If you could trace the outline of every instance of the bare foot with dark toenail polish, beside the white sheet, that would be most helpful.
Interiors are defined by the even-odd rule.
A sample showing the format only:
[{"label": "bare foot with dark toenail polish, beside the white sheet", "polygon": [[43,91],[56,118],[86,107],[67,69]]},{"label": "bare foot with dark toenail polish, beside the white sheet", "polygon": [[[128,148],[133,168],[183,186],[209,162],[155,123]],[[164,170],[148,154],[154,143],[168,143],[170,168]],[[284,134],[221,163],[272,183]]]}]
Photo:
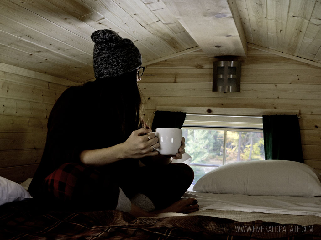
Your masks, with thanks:
[{"label": "bare foot with dark toenail polish, beside the white sheet", "polygon": [[181,199],[165,209],[153,211],[151,213],[154,213],[154,214],[159,214],[164,212],[190,213],[198,210],[199,210],[199,205],[197,204],[197,200],[195,198],[188,198],[188,199]]}]

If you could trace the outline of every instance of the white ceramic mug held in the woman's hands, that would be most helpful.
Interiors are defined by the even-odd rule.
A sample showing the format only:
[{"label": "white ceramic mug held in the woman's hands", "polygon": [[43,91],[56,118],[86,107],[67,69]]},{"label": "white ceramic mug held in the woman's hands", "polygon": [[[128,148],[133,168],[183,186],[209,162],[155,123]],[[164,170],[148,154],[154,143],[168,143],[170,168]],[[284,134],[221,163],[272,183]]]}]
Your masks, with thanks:
[{"label": "white ceramic mug held in the woman's hands", "polygon": [[162,155],[175,155],[182,144],[182,129],[156,128],[154,132],[158,137],[160,147],[156,150]]}]

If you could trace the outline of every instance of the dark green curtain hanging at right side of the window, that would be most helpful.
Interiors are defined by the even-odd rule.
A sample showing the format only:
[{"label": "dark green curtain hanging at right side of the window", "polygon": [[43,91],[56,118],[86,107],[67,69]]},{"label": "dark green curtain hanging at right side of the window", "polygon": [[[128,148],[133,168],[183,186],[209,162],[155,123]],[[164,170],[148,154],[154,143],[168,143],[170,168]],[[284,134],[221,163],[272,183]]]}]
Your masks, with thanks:
[{"label": "dark green curtain hanging at right side of the window", "polygon": [[265,159],[304,163],[297,115],[264,115]]}]

